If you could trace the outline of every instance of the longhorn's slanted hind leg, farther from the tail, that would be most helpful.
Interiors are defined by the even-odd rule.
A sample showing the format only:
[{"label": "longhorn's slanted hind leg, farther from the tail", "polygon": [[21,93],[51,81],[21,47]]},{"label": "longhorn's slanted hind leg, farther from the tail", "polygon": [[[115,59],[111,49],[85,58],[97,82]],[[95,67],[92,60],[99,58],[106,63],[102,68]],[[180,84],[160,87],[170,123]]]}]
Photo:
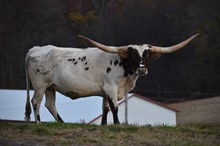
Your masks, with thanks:
[{"label": "longhorn's slanted hind leg, farther from the tail", "polygon": [[46,103],[45,106],[46,108],[50,111],[50,113],[53,115],[53,117],[58,121],[58,122],[63,122],[62,118],[57,112],[56,109],[56,96],[55,96],[55,90],[51,87],[47,88],[46,92]]}]

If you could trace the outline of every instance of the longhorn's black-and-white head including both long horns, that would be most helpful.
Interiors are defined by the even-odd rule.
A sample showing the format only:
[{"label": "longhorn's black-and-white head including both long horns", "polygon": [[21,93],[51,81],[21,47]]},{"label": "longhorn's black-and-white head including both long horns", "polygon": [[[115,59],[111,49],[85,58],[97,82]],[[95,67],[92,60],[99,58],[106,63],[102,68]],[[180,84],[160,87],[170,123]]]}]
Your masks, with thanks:
[{"label": "longhorn's black-and-white head including both long horns", "polygon": [[121,57],[123,67],[126,69],[125,75],[136,73],[138,75],[146,75],[147,59],[157,59],[161,54],[172,53],[187,45],[198,34],[193,35],[187,40],[170,47],[159,47],[149,44],[144,45],[127,45],[121,47],[112,47],[100,44],[94,40],[91,40],[85,36],[79,35],[79,37],[86,39],[92,45],[108,53],[117,53]]}]

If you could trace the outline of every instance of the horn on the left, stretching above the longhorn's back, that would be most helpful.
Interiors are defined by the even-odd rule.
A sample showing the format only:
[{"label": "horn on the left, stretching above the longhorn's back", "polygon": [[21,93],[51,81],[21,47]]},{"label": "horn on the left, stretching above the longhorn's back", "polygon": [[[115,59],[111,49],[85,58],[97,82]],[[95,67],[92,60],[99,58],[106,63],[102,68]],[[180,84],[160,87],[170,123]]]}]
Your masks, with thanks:
[{"label": "horn on the left, stretching above the longhorn's back", "polygon": [[89,41],[89,43],[91,43],[93,46],[99,48],[100,50],[108,52],[108,53],[118,53],[119,49],[121,48],[121,47],[106,46],[106,45],[100,44],[96,41],[93,41],[85,36],[82,36],[82,35],[78,35],[78,36]]}]

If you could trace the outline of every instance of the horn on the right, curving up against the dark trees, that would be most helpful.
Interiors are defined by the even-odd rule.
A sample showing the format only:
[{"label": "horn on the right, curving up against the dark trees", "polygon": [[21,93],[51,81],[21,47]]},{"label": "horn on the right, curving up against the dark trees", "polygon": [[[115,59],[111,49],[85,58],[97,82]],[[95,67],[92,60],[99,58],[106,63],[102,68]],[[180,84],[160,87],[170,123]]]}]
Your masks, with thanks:
[{"label": "horn on the right, curving up against the dark trees", "polygon": [[157,52],[157,53],[172,53],[175,52],[181,48],[183,48],[184,46],[186,46],[191,40],[193,40],[195,37],[197,37],[199,35],[199,33],[191,36],[190,38],[188,38],[187,40],[174,45],[174,46],[170,46],[170,47],[158,47],[158,46],[151,46],[151,51],[153,52]]}]

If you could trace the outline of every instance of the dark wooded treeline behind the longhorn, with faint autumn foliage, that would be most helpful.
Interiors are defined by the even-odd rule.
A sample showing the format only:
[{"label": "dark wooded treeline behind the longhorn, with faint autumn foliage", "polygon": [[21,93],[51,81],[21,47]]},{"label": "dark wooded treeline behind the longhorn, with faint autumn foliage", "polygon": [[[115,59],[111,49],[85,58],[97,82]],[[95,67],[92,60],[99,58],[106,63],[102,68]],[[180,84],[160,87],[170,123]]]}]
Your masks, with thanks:
[{"label": "dark wooded treeline behind the longhorn, with faint autumn foliage", "polygon": [[0,1],[0,88],[25,88],[24,57],[35,45],[87,47],[86,35],[106,45],[176,44],[185,49],[149,60],[134,92],[172,101],[220,94],[218,0]]}]

